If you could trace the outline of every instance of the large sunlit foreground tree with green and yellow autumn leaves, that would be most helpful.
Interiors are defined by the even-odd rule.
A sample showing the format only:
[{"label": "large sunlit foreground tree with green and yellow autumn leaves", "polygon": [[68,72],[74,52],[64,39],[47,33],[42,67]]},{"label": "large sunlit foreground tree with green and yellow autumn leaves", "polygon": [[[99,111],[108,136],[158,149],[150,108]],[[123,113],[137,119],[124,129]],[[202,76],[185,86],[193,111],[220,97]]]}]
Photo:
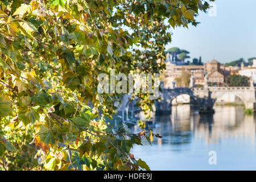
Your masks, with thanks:
[{"label": "large sunlit foreground tree with green and yellow autumn leaves", "polygon": [[[120,94],[98,93],[97,77],[159,73],[168,28],[196,26],[208,8],[201,0],[1,1],[0,168],[150,169],[130,149],[159,135],[108,128]],[[149,116],[149,93],[134,97]]]}]

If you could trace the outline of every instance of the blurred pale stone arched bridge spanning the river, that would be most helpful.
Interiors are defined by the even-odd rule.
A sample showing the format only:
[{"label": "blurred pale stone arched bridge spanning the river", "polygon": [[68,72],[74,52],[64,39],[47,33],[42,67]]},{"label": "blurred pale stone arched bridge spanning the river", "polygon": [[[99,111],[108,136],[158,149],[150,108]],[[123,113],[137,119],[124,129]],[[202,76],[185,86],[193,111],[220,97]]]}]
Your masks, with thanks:
[{"label": "blurred pale stone arched bridge spanning the river", "polygon": [[163,92],[159,93],[160,100],[155,101],[156,114],[171,113],[172,100],[181,94],[188,94],[191,99],[200,106],[200,109],[204,111],[213,110],[215,101],[224,94],[233,94],[240,98],[245,104],[245,109],[253,109],[254,111],[256,109],[256,87],[254,86],[205,86],[203,88],[163,88],[162,90]]}]

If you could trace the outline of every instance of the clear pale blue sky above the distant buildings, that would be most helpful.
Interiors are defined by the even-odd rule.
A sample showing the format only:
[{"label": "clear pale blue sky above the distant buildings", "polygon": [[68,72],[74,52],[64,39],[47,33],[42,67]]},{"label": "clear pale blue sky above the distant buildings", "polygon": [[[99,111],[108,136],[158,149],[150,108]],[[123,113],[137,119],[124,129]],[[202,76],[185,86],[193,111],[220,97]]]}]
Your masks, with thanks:
[{"label": "clear pale blue sky above the distant buildings", "polygon": [[196,18],[200,22],[197,27],[172,29],[172,42],[166,49],[187,49],[192,59],[202,56],[203,62],[214,58],[227,63],[241,57],[246,61],[256,57],[256,0],[216,0],[214,3],[216,16],[200,13]]}]

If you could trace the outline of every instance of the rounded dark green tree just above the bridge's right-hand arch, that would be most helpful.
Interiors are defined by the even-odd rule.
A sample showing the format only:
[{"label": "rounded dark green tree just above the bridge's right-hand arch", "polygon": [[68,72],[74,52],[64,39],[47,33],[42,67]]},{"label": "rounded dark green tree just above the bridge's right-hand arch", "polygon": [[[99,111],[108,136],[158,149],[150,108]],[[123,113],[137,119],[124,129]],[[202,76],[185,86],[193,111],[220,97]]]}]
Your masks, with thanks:
[{"label": "rounded dark green tree just above the bridge's right-hand arch", "polygon": [[250,78],[241,75],[229,75],[226,78],[228,86],[250,86]]}]

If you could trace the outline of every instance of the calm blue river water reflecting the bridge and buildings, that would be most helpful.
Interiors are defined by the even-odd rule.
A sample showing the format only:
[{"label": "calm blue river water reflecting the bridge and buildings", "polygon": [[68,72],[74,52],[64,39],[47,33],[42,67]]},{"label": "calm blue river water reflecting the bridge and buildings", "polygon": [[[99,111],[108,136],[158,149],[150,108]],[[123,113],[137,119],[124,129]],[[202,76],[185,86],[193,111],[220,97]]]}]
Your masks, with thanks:
[{"label": "calm blue river water reflecting the bridge and buildings", "polygon": [[143,141],[131,153],[151,170],[256,170],[255,115],[234,106],[214,110],[200,116],[190,105],[173,106],[170,115],[154,120],[152,131],[163,138],[152,146]]}]

